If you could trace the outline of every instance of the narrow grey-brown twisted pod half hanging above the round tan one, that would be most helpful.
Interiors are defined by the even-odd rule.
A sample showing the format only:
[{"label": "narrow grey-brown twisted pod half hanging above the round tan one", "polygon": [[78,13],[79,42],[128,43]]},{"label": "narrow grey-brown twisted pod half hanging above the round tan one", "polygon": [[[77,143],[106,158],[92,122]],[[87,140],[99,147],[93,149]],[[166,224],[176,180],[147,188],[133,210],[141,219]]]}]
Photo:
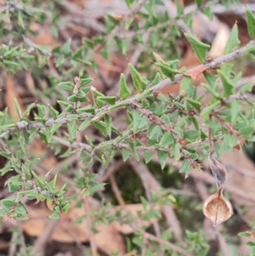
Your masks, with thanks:
[{"label": "narrow grey-brown twisted pod half hanging above the round tan one", "polygon": [[212,169],[212,174],[216,181],[217,188],[219,190],[222,188],[227,180],[226,168],[224,168],[224,166],[220,162],[218,162],[218,160],[214,156],[212,156],[212,154],[209,156],[209,163]]}]

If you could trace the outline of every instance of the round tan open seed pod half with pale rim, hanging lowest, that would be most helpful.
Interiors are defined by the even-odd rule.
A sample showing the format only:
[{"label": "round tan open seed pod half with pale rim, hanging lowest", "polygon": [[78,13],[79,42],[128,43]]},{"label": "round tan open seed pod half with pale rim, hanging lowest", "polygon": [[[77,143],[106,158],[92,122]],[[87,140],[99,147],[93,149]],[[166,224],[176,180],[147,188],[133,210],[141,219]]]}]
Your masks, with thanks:
[{"label": "round tan open seed pod half with pale rim, hanging lowest", "polygon": [[228,220],[233,214],[233,208],[229,200],[223,195],[223,189],[219,189],[204,202],[203,213],[212,220],[213,225],[218,225]]}]

